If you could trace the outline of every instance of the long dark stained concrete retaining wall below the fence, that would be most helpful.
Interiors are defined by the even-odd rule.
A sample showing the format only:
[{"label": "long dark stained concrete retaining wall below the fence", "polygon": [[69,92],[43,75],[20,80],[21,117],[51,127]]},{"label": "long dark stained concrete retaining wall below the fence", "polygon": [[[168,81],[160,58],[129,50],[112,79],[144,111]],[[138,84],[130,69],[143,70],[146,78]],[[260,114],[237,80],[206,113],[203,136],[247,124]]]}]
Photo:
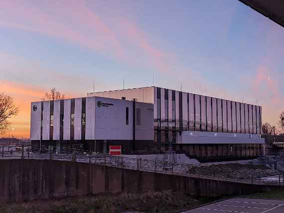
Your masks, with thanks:
[{"label": "long dark stained concrete retaining wall below the fence", "polygon": [[163,190],[178,191],[193,196],[217,197],[279,188],[279,186],[232,183],[82,162],[0,160],[0,200]]}]

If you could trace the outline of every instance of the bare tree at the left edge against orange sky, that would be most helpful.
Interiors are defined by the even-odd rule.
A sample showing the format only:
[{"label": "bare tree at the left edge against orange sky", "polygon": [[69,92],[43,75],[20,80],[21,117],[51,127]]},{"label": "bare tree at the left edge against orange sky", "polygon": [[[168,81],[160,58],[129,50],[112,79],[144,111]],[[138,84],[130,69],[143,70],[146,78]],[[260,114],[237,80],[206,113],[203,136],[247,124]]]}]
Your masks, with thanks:
[{"label": "bare tree at the left edge against orange sky", "polygon": [[19,113],[19,108],[13,103],[13,98],[0,93],[0,134],[5,134],[10,126],[9,118]]}]

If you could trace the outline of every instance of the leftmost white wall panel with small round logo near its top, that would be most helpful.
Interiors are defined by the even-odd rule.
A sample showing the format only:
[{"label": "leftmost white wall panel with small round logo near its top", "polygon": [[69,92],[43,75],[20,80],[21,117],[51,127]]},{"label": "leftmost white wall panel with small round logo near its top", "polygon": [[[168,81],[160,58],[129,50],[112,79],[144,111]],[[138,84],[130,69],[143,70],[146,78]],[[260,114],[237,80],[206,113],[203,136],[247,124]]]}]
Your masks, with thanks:
[{"label": "leftmost white wall panel with small round logo near its top", "polygon": [[[30,140],[40,140],[41,102],[32,102],[30,106]],[[33,106],[36,111],[33,111]]]}]

